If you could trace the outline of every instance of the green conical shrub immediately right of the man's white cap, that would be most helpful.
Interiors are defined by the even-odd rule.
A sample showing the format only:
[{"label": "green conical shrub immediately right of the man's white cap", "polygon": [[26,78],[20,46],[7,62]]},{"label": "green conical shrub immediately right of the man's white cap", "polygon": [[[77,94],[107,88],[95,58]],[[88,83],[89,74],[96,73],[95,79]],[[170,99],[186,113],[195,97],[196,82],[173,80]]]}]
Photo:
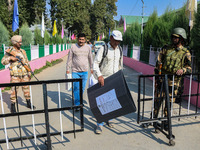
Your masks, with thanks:
[{"label": "green conical shrub immediately right of the man's white cap", "polygon": [[127,28],[123,35],[123,44],[132,47],[134,45],[140,45],[141,43],[141,26],[139,23],[133,23]]}]

